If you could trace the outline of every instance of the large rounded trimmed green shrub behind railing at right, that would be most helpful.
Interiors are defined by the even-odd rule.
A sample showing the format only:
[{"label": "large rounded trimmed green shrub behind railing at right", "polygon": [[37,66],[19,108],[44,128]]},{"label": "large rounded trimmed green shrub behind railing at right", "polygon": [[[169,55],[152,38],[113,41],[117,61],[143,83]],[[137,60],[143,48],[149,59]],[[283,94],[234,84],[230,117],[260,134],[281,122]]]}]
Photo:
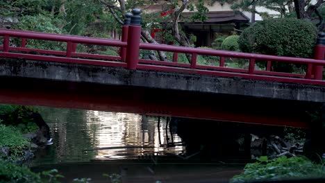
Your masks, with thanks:
[{"label": "large rounded trimmed green shrub behind railing at right", "polygon": [[244,30],[238,40],[240,50],[248,53],[310,58],[317,29],[301,19],[268,19]]}]

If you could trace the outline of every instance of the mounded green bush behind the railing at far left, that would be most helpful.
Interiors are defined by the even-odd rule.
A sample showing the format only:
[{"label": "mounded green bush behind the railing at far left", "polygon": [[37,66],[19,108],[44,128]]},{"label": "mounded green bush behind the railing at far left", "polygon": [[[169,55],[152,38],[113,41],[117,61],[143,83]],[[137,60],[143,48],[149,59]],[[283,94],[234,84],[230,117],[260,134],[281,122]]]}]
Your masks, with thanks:
[{"label": "mounded green bush behind the railing at far left", "polygon": [[[35,16],[24,16],[19,19],[19,22],[12,28],[18,30],[31,30],[42,33],[57,33],[63,34],[63,30],[60,28],[62,20],[56,19],[51,16],[35,15]],[[17,45],[19,45],[19,40]],[[63,42],[51,42],[51,41],[40,41],[40,40],[27,40],[26,47],[35,49],[51,49],[56,51],[63,51],[66,48],[66,44]]]}]

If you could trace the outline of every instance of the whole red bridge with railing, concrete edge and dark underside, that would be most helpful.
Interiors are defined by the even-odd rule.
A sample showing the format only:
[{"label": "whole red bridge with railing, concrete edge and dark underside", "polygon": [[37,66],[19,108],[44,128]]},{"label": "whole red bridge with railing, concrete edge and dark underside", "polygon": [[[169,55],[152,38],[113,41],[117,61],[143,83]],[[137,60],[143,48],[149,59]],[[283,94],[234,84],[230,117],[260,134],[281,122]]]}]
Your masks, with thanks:
[{"label": "whole red bridge with railing, concrete edge and dark underside", "polygon": [[[0,29],[0,103],[308,127],[306,110],[325,102],[325,46],[315,46],[314,59],[289,58],[140,43],[140,32],[132,21],[123,26],[122,40]],[[65,51],[35,49],[28,40],[67,46]],[[78,44],[115,46],[120,53],[79,53]],[[174,56],[169,62],[145,60],[140,50]],[[179,62],[179,53],[190,54],[190,63]],[[215,57],[219,65],[197,64],[197,55]],[[227,58],[245,59],[249,67],[225,67]],[[261,61],[264,71],[256,69]],[[303,64],[306,70],[276,72],[274,62]]]}]

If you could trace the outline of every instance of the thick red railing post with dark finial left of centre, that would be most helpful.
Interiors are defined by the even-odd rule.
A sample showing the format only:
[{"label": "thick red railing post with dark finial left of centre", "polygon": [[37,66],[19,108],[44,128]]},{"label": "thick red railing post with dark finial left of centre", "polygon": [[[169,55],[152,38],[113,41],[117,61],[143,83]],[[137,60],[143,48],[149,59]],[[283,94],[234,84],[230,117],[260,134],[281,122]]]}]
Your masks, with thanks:
[{"label": "thick red railing post with dark finial left of centre", "polygon": [[126,64],[128,69],[137,69],[139,62],[139,47],[140,47],[140,10],[133,9],[131,17],[131,25],[128,26],[128,45],[126,46]]}]

